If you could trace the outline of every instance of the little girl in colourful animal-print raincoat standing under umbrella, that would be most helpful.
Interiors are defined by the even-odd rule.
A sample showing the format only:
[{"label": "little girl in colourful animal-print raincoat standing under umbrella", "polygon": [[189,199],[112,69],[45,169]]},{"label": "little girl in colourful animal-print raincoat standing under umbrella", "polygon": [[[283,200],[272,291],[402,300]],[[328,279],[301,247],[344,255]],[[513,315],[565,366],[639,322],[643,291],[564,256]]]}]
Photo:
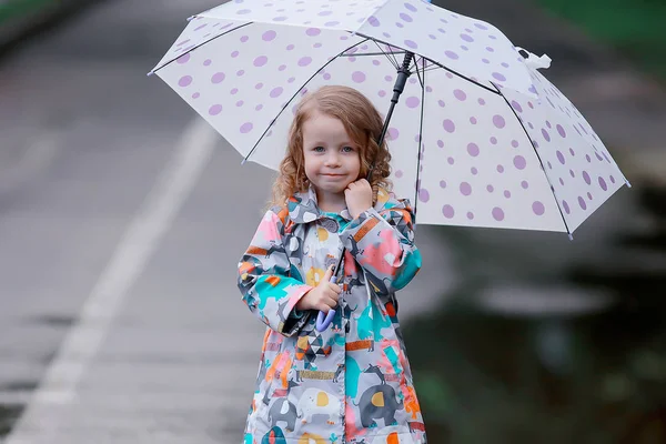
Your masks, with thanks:
[{"label": "little girl in colourful animal-print raincoat standing under umbrella", "polygon": [[[243,302],[269,326],[245,443],[426,442],[395,297],[421,254],[408,201],[387,191],[382,127],[346,87],[324,87],[296,110],[274,206],[239,264]],[[319,332],[317,311],[329,310]]]}]

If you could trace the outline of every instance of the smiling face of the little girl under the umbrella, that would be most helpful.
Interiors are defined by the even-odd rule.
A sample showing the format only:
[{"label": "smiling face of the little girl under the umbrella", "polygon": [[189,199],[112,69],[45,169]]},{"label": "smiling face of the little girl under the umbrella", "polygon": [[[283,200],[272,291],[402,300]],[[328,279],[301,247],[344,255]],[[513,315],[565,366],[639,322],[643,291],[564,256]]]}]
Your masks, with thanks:
[{"label": "smiling face of the little girl under the umbrella", "polygon": [[359,179],[359,147],[339,119],[314,111],[303,123],[305,175],[319,194],[344,196],[344,190]]}]

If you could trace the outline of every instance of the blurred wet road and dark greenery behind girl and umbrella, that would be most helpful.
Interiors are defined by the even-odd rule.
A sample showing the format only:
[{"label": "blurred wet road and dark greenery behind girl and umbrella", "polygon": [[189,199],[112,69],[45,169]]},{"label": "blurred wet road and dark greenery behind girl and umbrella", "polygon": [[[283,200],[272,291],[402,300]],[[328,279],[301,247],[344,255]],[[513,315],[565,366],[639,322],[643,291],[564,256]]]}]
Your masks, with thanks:
[{"label": "blurred wet road and dark greenery behind girl and umbrella", "polygon": [[[430,442],[666,443],[666,2],[434,3],[547,53],[634,186],[574,241],[417,228]],[[0,441],[241,441],[263,329],[235,268],[272,174],[145,77],[216,4],[0,0]]]}]

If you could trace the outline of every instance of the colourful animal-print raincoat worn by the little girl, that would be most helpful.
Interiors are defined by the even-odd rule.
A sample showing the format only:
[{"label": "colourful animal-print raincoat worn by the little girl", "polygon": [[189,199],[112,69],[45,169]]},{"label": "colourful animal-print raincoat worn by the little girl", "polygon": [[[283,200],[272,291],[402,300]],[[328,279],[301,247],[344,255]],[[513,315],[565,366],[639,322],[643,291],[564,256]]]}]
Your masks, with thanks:
[{"label": "colourful animal-print raincoat worn by the little girl", "polygon": [[[245,444],[425,444],[395,291],[421,268],[408,201],[380,190],[351,220],[310,190],[266,212],[239,264],[239,287],[269,327]],[[296,302],[346,248],[324,332]]]}]

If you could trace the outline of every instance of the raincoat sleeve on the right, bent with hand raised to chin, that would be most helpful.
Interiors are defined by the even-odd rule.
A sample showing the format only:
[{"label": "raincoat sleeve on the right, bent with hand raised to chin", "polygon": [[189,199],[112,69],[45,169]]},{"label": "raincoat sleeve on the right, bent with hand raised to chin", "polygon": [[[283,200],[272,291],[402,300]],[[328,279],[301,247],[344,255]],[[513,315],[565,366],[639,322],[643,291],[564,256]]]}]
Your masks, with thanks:
[{"label": "raincoat sleeve on the right, bent with hand raised to chin", "polygon": [[389,201],[361,213],[341,233],[347,251],[365,270],[379,294],[403,289],[421,270],[408,200]]}]

